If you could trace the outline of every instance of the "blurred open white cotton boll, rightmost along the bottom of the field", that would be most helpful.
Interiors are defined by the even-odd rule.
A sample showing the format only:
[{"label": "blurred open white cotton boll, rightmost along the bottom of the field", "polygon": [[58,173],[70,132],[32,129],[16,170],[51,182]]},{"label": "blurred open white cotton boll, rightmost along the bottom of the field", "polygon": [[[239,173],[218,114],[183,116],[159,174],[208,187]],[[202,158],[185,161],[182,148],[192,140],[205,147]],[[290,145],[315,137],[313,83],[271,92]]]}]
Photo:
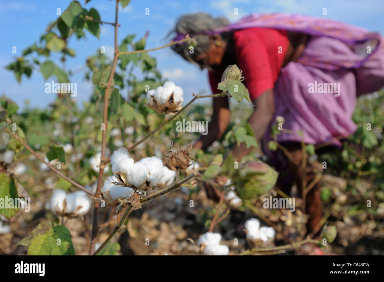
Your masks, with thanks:
[{"label": "blurred open white cotton boll, rightmost along the bottom of the field", "polygon": [[245,222],[245,232],[247,233],[247,241],[253,244],[272,241],[276,234],[272,227],[260,227],[260,221],[256,218],[248,219]]}]

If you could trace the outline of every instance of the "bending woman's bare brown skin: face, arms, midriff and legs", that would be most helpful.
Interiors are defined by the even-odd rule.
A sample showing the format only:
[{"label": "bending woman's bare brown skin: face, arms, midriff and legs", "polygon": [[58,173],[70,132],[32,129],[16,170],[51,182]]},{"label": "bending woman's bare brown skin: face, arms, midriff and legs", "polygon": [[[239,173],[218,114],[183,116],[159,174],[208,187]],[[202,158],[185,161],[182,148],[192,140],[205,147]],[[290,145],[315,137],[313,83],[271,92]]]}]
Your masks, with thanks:
[{"label": "bending woman's bare brown skin: face, arms, midriff and legs", "polygon": [[[286,51],[282,67],[300,57],[301,53],[305,49],[308,36],[301,33],[288,32],[288,40],[290,43],[288,50]],[[211,70],[225,69],[228,65],[235,64],[235,52],[232,43],[226,43],[223,41],[220,35],[210,36],[209,48],[207,51],[205,51],[205,53],[197,56],[195,58],[195,62],[200,65],[201,69],[203,69],[204,66],[208,66]],[[252,126],[257,141],[260,142],[275,112],[273,89],[268,89],[263,92],[253,101],[253,104],[255,105],[255,108],[248,119],[248,123]],[[208,124],[208,134],[202,135],[200,139],[195,143],[194,148],[205,150],[215,140],[220,139],[220,137],[225,132],[225,129],[227,129],[229,122],[230,110],[228,96],[215,97],[213,103],[212,119]],[[303,158],[301,144],[289,143],[283,145],[285,145],[288,153],[291,154],[293,159],[297,163],[301,163]],[[251,151],[252,148],[247,149],[245,144],[241,144],[239,147],[235,146],[233,148],[233,155],[237,158],[238,161],[240,161],[242,157],[248,155],[248,153]],[[279,171],[284,170],[292,176],[292,181],[296,183],[299,194],[301,195],[301,185],[303,183],[301,168],[297,167],[288,158],[286,158],[286,163],[288,164],[287,167],[277,167],[276,169]],[[310,165],[308,165],[306,169],[306,182],[309,184],[312,180],[314,180],[316,175]],[[280,188],[280,190],[289,195],[292,182],[288,182],[282,185],[280,184],[280,181],[278,181],[277,186]],[[214,189],[210,185],[207,185],[206,187],[207,195],[214,200],[218,200],[220,196],[219,192],[216,190],[217,189]],[[322,217],[319,183],[314,185],[306,195],[306,213],[309,215],[307,223],[307,233],[309,234],[317,227],[317,224]]]}]

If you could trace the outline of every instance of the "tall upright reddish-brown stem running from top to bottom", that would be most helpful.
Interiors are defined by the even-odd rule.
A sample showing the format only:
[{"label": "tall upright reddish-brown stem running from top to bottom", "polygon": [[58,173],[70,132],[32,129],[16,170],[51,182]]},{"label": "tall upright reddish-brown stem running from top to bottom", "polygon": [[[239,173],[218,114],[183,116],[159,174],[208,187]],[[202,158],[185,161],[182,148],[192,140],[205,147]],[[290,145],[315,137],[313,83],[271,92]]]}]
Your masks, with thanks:
[{"label": "tall upright reddish-brown stem running from top to bottom", "polygon": [[[114,47],[115,47],[115,54],[113,57],[113,63],[112,63],[112,69],[111,74],[109,75],[109,79],[106,85],[106,90],[104,94],[104,106],[103,106],[103,123],[104,123],[104,130],[103,130],[103,138],[101,142],[101,163],[100,163],[100,170],[99,170],[99,176],[98,176],[98,182],[97,182],[97,188],[96,192],[94,194],[94,197],[96,198],[97,195],[100,193],[101,190],[101,184],[103,183],[103,173],[104,173],[104,158],[105,158],[105,147],[106,147],[106,132],[107,132],[107,126],[108,126],[108,101],[109,101],[109,92],[111,91],[111,84],[113,80],[113,76],[115,73],[116,63],[119,57],[118,53],[118,10],[119,10],[119,0],[116,0],[116,10],[115,10],[115,24],[114,24]],[[94,203],[93,206],[93,213],[92,213],[92,231],[91,231],[91,244],[89,246],[89,255],[93,254],[96,244],[96,237],[98,234],[98,215],[99,215],[99,205],[98,203]]]}]

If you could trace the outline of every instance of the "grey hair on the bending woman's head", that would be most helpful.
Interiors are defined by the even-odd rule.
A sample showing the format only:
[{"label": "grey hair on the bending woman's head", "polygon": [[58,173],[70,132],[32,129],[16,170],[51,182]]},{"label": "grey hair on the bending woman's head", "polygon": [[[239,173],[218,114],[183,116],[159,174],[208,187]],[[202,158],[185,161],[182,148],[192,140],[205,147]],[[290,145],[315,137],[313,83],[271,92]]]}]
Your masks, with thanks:
[{"label": "grey hair on the bending woman's head", "polygon": [[[220,28],[229,24],[229,20],[223,16],[218,16],[213,18],[208,13],[194,13],[181,16],[175,25],[175,29],[170,31],[172,33],[182,33],[182,34],[194,34],[204,31],[214,30],[215,28]],[[180,54],[185,60],[193,62],[193,59],[201,53],[207,51],[209,47],[209,35],[206,34],[197,34],[191,35],[196,41],[197,45],[194,47],[194,53],[189,53],[189,45],[185,42],[182,45],[172,45],[171,48],[177,53]],[[227,41],[228,38],[226,34],[222,33],[222,38],[224,41]]]}]

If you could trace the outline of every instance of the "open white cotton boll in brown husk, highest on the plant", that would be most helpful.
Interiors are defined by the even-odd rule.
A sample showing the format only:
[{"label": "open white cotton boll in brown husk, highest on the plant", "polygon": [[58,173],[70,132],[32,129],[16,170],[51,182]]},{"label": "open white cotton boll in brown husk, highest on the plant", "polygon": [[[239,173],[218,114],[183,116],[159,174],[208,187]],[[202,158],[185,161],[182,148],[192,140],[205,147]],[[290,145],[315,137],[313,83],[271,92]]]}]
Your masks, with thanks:
[{"label": "open white cotton boll in brown husk, highest on the plant", "polygon": [[174,82],[167,81],[163,86],[151,89],[147,92],[147,107],[159,113],[174,114],[182,108],[184,92]]}]

